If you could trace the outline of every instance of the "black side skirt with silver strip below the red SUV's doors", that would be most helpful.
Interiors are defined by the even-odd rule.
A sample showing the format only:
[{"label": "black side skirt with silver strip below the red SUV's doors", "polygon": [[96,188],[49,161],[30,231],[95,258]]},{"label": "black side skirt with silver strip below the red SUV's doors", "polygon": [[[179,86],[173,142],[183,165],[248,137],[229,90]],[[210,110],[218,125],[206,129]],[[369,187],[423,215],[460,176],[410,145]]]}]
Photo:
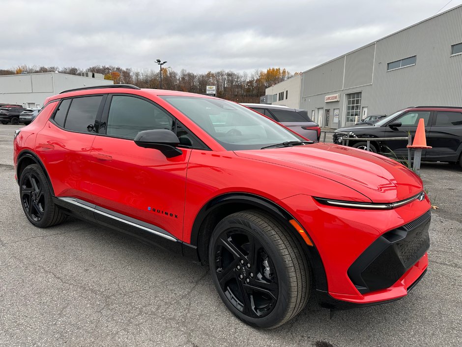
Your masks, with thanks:
[{"label": "black side skirt with silver strip below the red SUV's doors", "polygon": [[73,197],[54,196],[53,201],[68,215],[84,221],[107,226],[124,234],[131,235],[144,243],[187,256],[194,261],[199,260],[196,247],[184,243],[168,231],[156,225],[122,215]]}]

